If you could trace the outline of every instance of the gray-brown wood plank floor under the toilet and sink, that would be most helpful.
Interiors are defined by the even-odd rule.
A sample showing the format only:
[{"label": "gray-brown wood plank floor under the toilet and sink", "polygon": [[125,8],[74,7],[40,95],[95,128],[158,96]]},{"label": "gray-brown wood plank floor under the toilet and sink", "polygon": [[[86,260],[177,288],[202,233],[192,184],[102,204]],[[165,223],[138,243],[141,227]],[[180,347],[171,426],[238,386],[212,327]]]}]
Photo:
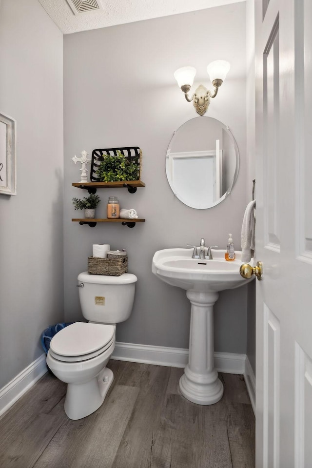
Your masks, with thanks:
[{"label": "gray-brown wood plank floor under the toilet and sink", "polygon": [[244,379],[223,374],[221,401],[181,396],[183,369],[111,360],[103,405],[72,421],[66,385],[45,374],[0,419],[1,468],[254,468],[255,420]]}]

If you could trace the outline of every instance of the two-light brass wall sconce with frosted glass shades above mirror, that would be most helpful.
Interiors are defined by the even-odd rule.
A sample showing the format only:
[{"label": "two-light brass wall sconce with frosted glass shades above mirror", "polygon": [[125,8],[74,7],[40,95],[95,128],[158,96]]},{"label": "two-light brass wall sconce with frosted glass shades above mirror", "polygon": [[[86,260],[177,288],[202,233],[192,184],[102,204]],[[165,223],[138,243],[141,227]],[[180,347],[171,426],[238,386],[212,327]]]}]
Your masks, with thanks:
[{"label": "two-light brass wall sconce with frosted glass shades above mirror", "polygon": [[194,77],[196,75],[196,68],[194,67],[182,67],[175,71],[175,78],[177,84],[184,93],[185,99],[188,102],[193,101],[196,112],[199,115],[204,115],[210,104],[210,98],[215,98],[218,89],[223,83],[228,71],[230,70],[230,63],[225,60],[215,60],[211,62],[207,67],[207,73],[210,81],[214,85],[214,94],[205,86],[200,84],[193,94],[192,98],[189,98],[189,91],[193,85]]}]

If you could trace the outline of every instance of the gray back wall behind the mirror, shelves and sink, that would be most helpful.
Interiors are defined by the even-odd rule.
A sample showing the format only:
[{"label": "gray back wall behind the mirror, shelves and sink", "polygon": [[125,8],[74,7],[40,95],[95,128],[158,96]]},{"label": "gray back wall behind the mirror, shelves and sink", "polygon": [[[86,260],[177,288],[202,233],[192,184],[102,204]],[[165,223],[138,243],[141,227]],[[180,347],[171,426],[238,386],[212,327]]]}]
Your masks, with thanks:
[{"label": "gray back wall behind the mirror, shelves and sink", "polygon": [[[240,151],[233,192],[221,204],[195,210],[175,198],[165,174],[173,132],[196,117],[173,77],[183,65],[197,68],[195,86],[209,85],[207,64],[231,62],[231,70],[208,114],[228,125]],[[212,87],[212,85],[210,85]],[[66,320],[81,320],[77,275],[87,269],[93,243],[125,247],[129,271],[137,274],[131,317],[117,325],[117,341],[188,347],[190,304],[185,292],[151,272],[153,254],[167,247],[199,243],[225,248],[231,232],[237,250],[246,207],[246,35],[245,4],[236,3],[172,17],[87,31],[64,37],[64,279]],[[145,188],[101,190],[98,217],[109,195],[123,208],[135,208],[146,223],[133,229],[116,224],[95,228],[71,222],[77,217],[72,187],[79,181],[71,158],[94,148],[140,146]],[[220,294],[215,306],[215,350],[246,352],[247,287]]]}]

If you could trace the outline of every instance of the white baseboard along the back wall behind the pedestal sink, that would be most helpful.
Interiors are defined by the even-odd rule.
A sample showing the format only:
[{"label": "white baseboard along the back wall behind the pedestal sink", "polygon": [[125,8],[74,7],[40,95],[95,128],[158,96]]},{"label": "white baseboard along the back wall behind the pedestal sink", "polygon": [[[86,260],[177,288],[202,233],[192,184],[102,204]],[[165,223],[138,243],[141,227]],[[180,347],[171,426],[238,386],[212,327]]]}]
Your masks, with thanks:
[{"label": "white baseboard along the back wall behind the pedestal sink", "polygon": [[[188,363],[189,350],[166,348],[164,346],[137,345],[116,342],[112,359],[120,361],[143,362],[159,366],[185,367]],[[245,372],[245,354],[215,352],[215,368],[219,372],[243,374]]]}]

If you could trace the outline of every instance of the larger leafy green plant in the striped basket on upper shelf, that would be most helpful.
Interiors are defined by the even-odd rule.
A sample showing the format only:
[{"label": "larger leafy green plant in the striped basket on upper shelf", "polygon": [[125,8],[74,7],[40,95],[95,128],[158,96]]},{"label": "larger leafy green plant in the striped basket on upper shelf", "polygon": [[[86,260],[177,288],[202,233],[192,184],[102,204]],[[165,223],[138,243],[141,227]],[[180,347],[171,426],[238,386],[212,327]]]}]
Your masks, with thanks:
[{"label": "larger leafy green plant in the striped basket on upper shelf", "polygon": [[96,173],[101,182],[138,180],[139,164],[117,150],[116,156],[103,155]]}]

